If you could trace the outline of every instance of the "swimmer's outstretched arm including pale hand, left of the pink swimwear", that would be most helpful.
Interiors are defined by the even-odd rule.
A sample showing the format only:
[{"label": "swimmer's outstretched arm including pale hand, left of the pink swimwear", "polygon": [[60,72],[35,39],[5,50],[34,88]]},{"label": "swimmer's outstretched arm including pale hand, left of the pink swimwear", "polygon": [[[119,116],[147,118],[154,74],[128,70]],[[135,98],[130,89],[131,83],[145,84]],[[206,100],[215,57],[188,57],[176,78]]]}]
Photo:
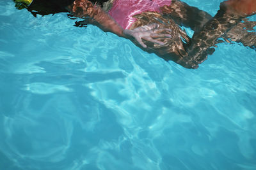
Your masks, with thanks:
[{"label": "swimmer's outstretched arm including pale hand, left of the pink swimwear", "polygon": [[90,17],[93,19],[93,21],[95,21],[93,24],[100,27],[100,29],[103,31],[113,32],[120,37],[131,39],[132,41],[139,43],[144,48],[147,48],[147,46],[141,39],[145,39],[152,43],[159,43],[161,45],[163,43],[154,38],[170,36],[168,34],[161,33],[167,31],[166,29],[157,29],[157,27],[156,29],[152,29],[150,31],[123,29],[111,16],[108,15],[108,13],[102,10],[102,8],[93,5],[87,0],[76,0],[72,5],[67,7],[67,10],[70,11],[70,13],[72,13],[75,17]]}]

